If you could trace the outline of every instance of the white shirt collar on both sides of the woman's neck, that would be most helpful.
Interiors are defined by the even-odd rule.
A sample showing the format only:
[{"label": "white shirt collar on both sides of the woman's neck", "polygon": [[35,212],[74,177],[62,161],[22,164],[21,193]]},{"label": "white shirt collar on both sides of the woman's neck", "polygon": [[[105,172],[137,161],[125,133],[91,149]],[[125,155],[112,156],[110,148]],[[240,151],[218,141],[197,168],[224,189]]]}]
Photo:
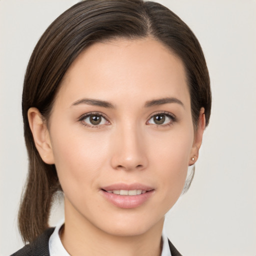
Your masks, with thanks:
[{"label": "white shirt collar on both sides of the woman's neck", "polygon": [[[65,250],[64,246],[61,243],[61,240],[59,238],[59,229],[63,225],[63,222],[61,221],[60,224],[58,224],[53,233],[50,236],[49,239],[49,252],[50,256],[70,256],[68,252]],[[162,231],[162,253],[161,256],[171,256],[169,244],[168,244],[168,238],[164,232]]]}]

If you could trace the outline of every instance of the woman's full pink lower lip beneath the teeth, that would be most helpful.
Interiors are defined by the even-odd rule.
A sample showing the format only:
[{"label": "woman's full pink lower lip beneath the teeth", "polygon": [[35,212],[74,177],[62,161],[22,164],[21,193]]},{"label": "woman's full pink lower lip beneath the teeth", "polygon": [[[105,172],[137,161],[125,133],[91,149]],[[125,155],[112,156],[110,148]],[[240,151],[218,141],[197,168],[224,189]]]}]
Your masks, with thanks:
[{"label": "woman's full pink lower lip beneath the teeth", "polygon": [[137,195],[120,195],[114,193],[108,193],[105,190],[101,190],[103,196],[111,202],[113,205],[119,208],[135,208],[142,205],[153,194],[154,189],[146,191],[143,194]]}]

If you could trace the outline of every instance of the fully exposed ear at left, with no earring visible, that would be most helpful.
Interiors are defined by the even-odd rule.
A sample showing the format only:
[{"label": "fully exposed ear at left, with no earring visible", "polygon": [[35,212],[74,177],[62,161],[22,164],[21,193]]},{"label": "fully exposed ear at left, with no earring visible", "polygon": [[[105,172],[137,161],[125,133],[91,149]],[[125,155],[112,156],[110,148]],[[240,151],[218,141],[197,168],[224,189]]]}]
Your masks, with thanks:
[{"label": "fully exposed ear at left, with no earring visible", "polygon": [[49,131],[41,113],[35,107],[30,107],[27,111],[30,130],[33,134],[34,144],[42,160],[45,163],[53,164],[54,157],[50,142]]}]

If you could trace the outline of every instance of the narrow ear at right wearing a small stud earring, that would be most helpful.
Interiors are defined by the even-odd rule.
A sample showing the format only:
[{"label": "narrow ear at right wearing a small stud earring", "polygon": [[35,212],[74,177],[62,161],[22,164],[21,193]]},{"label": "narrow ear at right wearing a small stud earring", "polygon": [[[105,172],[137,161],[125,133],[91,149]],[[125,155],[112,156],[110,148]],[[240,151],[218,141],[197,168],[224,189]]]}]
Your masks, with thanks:
[{"label": "narrow ear at right wearing a small stud earring", "polygon": [[201,107],[198,122],[197,122],[197,129],[194,132],[194,140],[193,140],[193,145],[190,151],[190,158],[189,158],[188,165],[194,164],[198,159],[199,148],[202,143],[202,134],[203,134],[204,128],[205,128],[204,107]]}]

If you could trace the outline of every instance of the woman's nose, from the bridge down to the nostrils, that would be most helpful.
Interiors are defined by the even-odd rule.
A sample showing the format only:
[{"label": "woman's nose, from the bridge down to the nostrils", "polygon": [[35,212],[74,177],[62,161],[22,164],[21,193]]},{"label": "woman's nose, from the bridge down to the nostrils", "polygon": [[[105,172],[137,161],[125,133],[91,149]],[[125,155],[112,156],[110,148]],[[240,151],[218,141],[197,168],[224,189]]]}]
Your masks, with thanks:
[{"label": "woman's nose, from the bridge down to the nostrils", "polygon": [[148,164],[143,132],[134,126],[115,131],[112,143],[111,166],[114,169],[144,169]]}]

